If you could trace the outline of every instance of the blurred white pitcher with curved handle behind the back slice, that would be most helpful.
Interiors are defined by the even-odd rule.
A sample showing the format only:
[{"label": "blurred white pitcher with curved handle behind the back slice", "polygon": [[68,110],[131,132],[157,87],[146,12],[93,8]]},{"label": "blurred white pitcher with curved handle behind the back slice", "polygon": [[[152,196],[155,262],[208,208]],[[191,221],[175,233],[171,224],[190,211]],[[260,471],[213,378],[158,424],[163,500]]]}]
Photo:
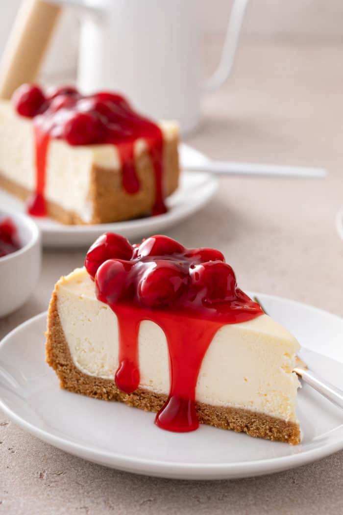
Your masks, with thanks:
[{"label": "blurred white pitcher with curved handle behind the back slice", "polygon": [[199,122],[201,92],[230,73],[248,2],[234,0],[220,64],[201,83],[196,0],[45,1],[81,13],[82,92],[122,92],[149,116],[177,119],[184,133]]}]

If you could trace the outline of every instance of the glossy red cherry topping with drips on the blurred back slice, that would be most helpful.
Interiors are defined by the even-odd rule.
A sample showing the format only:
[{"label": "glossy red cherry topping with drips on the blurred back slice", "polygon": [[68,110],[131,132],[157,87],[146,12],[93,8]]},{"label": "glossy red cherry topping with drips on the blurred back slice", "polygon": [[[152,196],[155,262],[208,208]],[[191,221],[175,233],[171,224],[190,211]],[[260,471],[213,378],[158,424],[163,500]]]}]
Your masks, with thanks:
[{"label": "glossy red cherry topping with drips on the blurred back slice", "polygon": [[83,96],[75,88],[61,87],[50,94],[34,84],[23,84],[13,95],[18,114],[33,118],[36,187],[28,212],[46,216],[46,160],[51,138],[69,145],[112,144],[118,149],[122,186],[134,195],[140,190],[135,166],[135,142],[143,138],[153,165],[153,215],[166,213],[163,193],[163,134],[158,125],[136,113],[121,95],[100,92]]}]

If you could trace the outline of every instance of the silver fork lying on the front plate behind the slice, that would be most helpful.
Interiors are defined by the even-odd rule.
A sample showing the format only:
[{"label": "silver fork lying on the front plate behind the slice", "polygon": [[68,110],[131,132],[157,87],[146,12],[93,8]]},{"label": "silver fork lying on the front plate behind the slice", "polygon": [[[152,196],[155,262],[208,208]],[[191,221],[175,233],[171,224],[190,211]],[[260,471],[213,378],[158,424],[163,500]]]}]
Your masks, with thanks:
[{"label": "silver fork lying on the front plate behind the slice", "polygon": [[[254,300],[260,304],[263,312],[267,315],[268,313],[264,309],[259,299],[254,297]],[[312,386],[312,388],[321,393],[323,397],[331,401],[339,408],[343,408],[343,390],[332,385],[326,379],[322,379],[322,377],[320,377],[312,370],[309,370],[306,363],[304,363],[302,359],[299,358],[299,356],[296,357],[296,366],[294,367],[293,372],[295,372],[297,376],[300,377],[300,379],[302,379],[305,383]]]}]

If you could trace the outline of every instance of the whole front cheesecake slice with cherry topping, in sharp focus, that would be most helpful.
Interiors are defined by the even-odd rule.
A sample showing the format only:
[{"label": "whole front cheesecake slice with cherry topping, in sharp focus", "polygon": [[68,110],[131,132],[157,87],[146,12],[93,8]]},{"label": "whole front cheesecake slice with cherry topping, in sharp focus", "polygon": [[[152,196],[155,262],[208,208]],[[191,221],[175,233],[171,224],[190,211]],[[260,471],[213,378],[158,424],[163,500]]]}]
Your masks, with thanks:
[{"label": "whole front cheesecake slice with cherry topping, in sharp focus", "polygon": [[[212,259],[212,261],[211,261]],[[56,284],[46,356],[72,392],[297,444],[299,345],[236,284],[223,255],[107,234]]]}]

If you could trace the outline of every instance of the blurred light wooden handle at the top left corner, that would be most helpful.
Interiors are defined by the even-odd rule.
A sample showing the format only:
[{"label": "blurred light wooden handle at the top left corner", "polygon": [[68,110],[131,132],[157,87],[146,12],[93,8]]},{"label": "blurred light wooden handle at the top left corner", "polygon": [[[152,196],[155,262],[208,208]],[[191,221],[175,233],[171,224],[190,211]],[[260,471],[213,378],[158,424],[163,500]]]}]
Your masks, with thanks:
[{"label": "blurred light wooden handle at the top left corner", "polygon": [[0,63],[0,98],[35,80],[60,12],[43,0],[23,0]]}]

